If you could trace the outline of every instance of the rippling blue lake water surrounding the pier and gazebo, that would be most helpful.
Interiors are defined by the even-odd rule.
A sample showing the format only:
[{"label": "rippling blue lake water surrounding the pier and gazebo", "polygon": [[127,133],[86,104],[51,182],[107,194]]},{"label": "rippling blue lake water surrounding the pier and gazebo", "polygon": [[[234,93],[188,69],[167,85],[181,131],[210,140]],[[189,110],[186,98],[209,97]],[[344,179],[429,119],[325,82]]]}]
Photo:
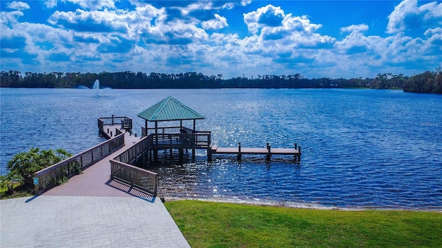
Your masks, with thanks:
[{"label": "rippling blue lake water surrounding the pier and gazebo", "polygon": [[[159,173],[166,197],[281,205],[442,209],[442,96],[398,90],[1,89],[1,174],[30,147],[74,154],[104,141],[97,117],[133,118],[175,99],[206,118],[218,146],[302,147],[291,156],[214,155],[184,163],[162,156],[141,166]],[[176,123],[177,124],[177,123]],[[184,122],[191,127],[193,123]]]}]

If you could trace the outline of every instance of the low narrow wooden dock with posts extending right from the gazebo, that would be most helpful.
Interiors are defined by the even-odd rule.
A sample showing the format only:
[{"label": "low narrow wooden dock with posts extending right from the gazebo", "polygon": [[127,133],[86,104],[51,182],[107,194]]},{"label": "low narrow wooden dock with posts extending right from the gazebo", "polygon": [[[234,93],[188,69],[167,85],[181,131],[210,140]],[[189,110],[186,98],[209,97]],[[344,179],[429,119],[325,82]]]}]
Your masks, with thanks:
[{"label": "low narrow wooden dock with posts extending right from the gazebo", "polygon": [[208,149],[209,160],[212,154],[236,154],[240,161],[242,155],[266,155],[267,161],[270,161],[272,155],[293,155],[295,160],[300,161],[301,147],[295,143],[294,148],[272,148],[269,143],[267,147],[241,147],[241,143],[238,143],[238,147],[218,147],[217,145],[211,145]]}]

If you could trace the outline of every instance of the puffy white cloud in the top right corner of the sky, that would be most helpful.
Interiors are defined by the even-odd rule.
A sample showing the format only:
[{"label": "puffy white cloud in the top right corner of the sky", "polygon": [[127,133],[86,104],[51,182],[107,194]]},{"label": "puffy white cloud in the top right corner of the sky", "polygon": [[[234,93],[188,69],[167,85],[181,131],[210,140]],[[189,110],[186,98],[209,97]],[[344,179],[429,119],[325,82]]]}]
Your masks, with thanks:
[{"label": "puffy white cloud in the top right corner of the sky", "polygon": [[404,0],[388,16],[387,33],[442,25],[442,3],[418,6],[417,0]]}]

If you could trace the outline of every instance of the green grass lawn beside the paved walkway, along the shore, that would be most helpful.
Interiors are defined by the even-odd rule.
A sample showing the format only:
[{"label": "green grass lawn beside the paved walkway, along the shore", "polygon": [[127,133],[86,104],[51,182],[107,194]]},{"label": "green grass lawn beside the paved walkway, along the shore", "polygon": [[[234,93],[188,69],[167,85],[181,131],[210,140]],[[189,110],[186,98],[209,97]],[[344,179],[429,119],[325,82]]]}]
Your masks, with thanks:
[{"label": "green grass lawn beside the paved walkway, along the shore", "polygon": [[442,247],[442,213],[164,204],[191,247]]}]

